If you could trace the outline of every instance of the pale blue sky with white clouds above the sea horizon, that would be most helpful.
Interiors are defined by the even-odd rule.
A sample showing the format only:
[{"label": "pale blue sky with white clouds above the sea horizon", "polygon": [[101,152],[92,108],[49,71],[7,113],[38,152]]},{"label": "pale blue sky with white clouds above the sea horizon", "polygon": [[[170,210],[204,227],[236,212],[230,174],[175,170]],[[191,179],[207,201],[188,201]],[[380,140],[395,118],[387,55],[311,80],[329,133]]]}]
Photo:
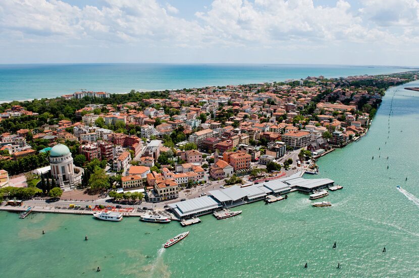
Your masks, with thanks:
[{"label": "pale blue sky with white clouds above the sea horizon", "polygon": [[419,0],[1,0],[0,63],[419,66]]}]

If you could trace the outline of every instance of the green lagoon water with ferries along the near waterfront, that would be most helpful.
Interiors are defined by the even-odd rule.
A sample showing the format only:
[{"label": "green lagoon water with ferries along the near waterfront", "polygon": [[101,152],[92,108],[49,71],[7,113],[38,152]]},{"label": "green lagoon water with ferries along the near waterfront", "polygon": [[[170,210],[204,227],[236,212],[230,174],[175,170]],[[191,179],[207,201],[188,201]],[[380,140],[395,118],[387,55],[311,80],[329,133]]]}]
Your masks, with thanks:
[{"label": "green lagoon water with ferries along the near waterfront", "polygon": [[[419,92],[405,86],[419,81],[390,88],[368,134],[321,158],[318,175],[304,175],[344,187],[321,199],[331,207],[292,192],[187,228],[0,212],[0,277],[418,277]],[[162,248],[184,231],[188,237]]]}]

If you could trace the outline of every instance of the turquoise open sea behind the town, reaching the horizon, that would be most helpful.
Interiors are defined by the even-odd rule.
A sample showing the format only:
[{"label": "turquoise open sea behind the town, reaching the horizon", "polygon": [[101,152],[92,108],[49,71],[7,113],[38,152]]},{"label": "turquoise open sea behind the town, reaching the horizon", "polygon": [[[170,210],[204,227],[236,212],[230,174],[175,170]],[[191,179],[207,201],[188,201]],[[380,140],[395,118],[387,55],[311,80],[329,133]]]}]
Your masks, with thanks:
[{"label": "turquoise open sea behind the town, reaching the horizon", "polygon": [[287,64],[0,64],[0,101],[403,72],[400,67]]}]

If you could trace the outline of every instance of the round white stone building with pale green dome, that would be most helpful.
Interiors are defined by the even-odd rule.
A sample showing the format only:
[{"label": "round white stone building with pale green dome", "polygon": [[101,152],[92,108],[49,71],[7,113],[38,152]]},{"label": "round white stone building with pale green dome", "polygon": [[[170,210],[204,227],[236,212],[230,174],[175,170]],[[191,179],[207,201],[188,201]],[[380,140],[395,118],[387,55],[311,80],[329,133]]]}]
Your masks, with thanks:
[{"label": "round white stone building with pale green dome", "polygon": [[51,175],[63,190],[74,189],[81,183],[83,169],[73,165],[71,152],[66,145],[57,144],[49,153]]}]

